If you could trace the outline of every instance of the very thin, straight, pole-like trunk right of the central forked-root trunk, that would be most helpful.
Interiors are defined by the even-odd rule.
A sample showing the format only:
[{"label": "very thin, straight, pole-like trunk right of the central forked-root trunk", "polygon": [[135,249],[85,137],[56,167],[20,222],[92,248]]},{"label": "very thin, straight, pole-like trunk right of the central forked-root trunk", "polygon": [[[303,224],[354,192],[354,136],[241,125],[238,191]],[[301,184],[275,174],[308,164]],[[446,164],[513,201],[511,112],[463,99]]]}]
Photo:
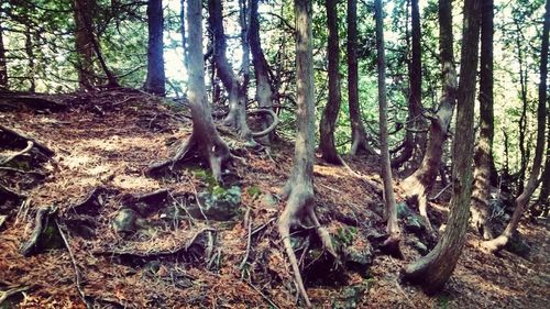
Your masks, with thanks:
[{"label": "very thin, straight, pole-like trunk right of the central forked-root trunk", "polygon": [[380,136],[382,153],[381,174],[384,180],[384,202],[386,205],[387,233],[389,234],[384,245],[389,249],[391,252],[400,255],[400,230],[397,221],[397,209],[395,205],[389,147],[387,142],[386,59],[384,52],[384,14],[382,0],[374,1],[374,10],[376,15],[376,65],[378,71]]}]

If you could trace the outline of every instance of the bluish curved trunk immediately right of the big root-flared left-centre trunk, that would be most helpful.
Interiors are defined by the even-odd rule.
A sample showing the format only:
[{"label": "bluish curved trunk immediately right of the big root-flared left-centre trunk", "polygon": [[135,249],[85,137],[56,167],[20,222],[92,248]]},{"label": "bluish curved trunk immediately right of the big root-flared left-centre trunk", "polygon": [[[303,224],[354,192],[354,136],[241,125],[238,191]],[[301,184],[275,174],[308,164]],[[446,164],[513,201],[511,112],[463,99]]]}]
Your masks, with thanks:
[{"label": "bluish curved trunk immediately right of the big root-flared left-centre trunk", "polygon": [[231,68],[231,65],[226,57],[227,42],[226,31],[223,30],[221,0],[208,0],[208,22],[213,32],[213,60],[218,76],[223,84],[223,87],[229,93],[229,113],[226,117],[224,123],[232,126],[240,133],[241,137],[253,141],[252,134],[246,124],[246,101],[242,87],[239,85],[237,76]]}]

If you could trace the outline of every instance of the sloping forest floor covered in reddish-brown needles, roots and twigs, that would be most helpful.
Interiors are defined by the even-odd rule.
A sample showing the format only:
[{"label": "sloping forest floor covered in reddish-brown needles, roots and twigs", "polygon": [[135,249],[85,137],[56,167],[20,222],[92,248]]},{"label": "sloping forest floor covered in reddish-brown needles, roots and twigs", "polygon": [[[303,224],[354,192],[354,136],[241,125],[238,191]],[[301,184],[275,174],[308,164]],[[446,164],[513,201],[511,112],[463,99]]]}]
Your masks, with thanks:
[{"label": "sloping forest floor covered in reddish-brown needles, roots and twigs", "polygon": [[[2,107],[0,101],[1,125],[55,152],[50,158],[29,152],[0,168],[0,185],[16,192],[0,191],[0,308],[86,308],[85,301],[97,308],[299,307],[276,228],[285,206],[276,195],[292,167],[292,142],[276,142],[268,156],[222,130],[223,140],[244,158],[230,168],[226,188],[212,184],[200,166],[148,177],[147,166],[169,157],[190,134],[185,109],[130,90],[52,98],[65,108],[29,108],[16,100]],[[25,145],[6,140],[4,133],[0,162]],[[345,159],[371,181],[318,159],[317,212],[342,247],[366,252],[363,260],[373,261],[359,263],[369,264],[369,272],[341,272],[322,253],[309,258],[316,242],[307,241],[308,231],[296,234],[314,307],[548,308],[548,220],[521,223],[531,247],[526,257],[482,253],[471,230],[452,278],[440,294],[427,296],[399,279],[400,269],[420,256],[416,235],[404,232],[403,258],[370,244],[385,229],[376,159]],[[194,205],[202,210],[201,192],[240,194],[239,209],[230,219],[194,216]],[[403,192],[397,190],[397,197],[403,200]],[[439,222],[444,222],[448,199],[446,192],[432,203]],[[24,256],[21,246],[44,207],[55,209],[46,216],[53,231],[44,233],[56,234],[57,244],[50,240],[51,249]],[[123,217],[123,209],[139,218]],[[120,220],[134,220],[135,230],[119,227],[117,232]]]}]

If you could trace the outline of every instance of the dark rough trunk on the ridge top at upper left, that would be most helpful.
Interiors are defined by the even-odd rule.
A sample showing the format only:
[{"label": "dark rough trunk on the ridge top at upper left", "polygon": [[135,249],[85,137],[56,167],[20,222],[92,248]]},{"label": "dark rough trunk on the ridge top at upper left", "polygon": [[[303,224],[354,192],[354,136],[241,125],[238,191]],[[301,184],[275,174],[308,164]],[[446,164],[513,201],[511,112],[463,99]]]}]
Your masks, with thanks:
[{"label": "dark rough trunk on the ridge top at upper left", "polygon": [[86,25],[86,20],[91,19],[86,16],[91,14],[95,0],[75,0],[73,7],[75,19],[75,47],[77,52],[77,70],[78,70],[78,85],[82,90],[90,90],[96,85],[94,74],[94,44],[89,36],[89,31]]}]

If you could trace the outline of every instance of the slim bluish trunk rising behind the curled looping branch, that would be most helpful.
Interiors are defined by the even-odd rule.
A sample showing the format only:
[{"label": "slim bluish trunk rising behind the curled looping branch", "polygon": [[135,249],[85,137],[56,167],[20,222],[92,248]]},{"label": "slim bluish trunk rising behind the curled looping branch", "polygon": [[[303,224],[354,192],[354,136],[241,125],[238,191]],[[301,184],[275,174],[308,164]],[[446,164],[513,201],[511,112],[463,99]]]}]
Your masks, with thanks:
[{"label": "slim bluish trunk rising behind the curled looping branch", "polygon": [[[256,101],[260,108],[273,110],[273,86],[270,78],[270,65],[262,51],[262,40],[260,38],[260,21],[257,13],[258,0],[250,0],[250,29],[249,42],[254,65],[254,77],[256,79]],[[270,126],[270,120],[262,118],[262,129]],[[263,143],[271,143],[271,135],[266,135]]]}]

